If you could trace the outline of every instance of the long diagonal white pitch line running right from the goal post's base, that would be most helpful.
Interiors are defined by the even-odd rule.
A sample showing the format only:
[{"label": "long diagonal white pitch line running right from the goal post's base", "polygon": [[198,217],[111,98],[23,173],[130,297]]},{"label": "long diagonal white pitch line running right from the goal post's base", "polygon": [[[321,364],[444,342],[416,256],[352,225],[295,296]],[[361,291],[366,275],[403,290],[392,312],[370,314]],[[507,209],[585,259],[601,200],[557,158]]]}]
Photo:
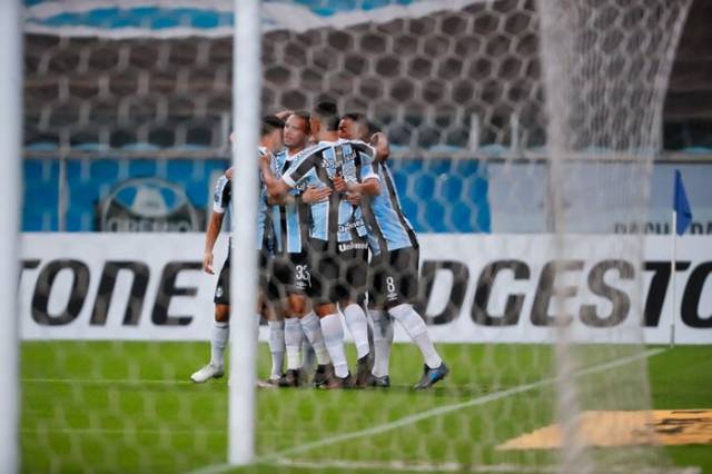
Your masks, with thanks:
[{"label": "long diagonal white pitch line running right from the goal post's base", "polygon": [[[576,374],[574,374],[574,376],[576,377],[581,377],[584,375],[591,375],[591,374],[595,374],[599,372],[605,372],[609,371],[611,368],[615,368],[615,367],[620,367],[622,365],[626,365],[630,364],[632,362],[635,361],[640,361],[643,358],[647,358],[647,357],[652,357],[655,356],[657,354],[661,354],[663,352],[665,352],[665,348],[656,348],[656,349],[650,349],[650,350],[645,350],[644,353],[641,354],[636,354],[630,357],[625,357],[622,359],[617,359],[617,361],[612,361],[605,364],[600,364],[600,365],[595,365],[593,367],[589,367],[589,368],[584,368],[582,371],[578,371]],[[367,437],[367,436],[373,436],[373,435],[377,435],[377,434],[382,434],[388,431],[393,431],[403,426],[407,426],[407,425],[412,425],[414,423],[421,422],[423,419],[427,419],[427,418],[432,418],[435,416],[441,416],[441,415],[445,415],[452,412],[457,412],[459,409],[463,408],[469,408],[472,406],[478,406],[478,405],[484,405],[486,403],[490,402],[495,402],[497,399],[502,399],[502,398],[506,398],[510,397],[512,395],[518,395],[525,392],[531,392],[537,388],[544,388],[547,387],[550,385],[554,385],[556,383],[556,378],[552,377],[552,378],[543,378],[538,382],[533,382],[530,384],[524,384],[524,385],[518,385],[516,387],[512,387],[512,388],[507,388],[505,391],[501,391],[501,392],[495,392],[485,396],[481,396],[481,397],[476,397],[476,398],[472,398],[467,402],[462,402],[462,403],[456,403],[456,404],[452,404],[452,405],[444,405],[444,406],[439,406],[437,408],[433,408],[433,409],[428,409],[426,412],[423,413],[418,413],[415,415],[409,415],[409,416],[405,416],[400,419],[396,419],[394,422],[389,422],[389,423],[385,423],[382,425],[376,425],[366,429],[359,429],[356,432],[352,432],[352,433],[345,433],[342,435],[336,435],[336,436],[329,436],[327,438],[324,440],[318,440],[315,441],[313,443],[306,443],[303,445],[298,445],[298,446],[294,446],[287,450],[283,450],[283,451],[278,451],[276,453],[271,453],[271,454],[267,454],[263,457],[257,458],[255,462],[256,463],[276,463],[279,462],[280,460],[285,458],[286,456],[290,456],[290,455],[295,455],[295,454],[299,454],[299,453],[304,453],[306,451],[312,451],[312,450],[317,450],[324,446],[328,446],[332,444],[337,444],[337,443],[343,443],[346,441],[352,441],[352,440],[357,440],[360,437]],[[197,470],[197,471],[191,471],[190,474],[219,474],[219,473],[225,473],[228,472],[230,470],[235,468],[235,466],[231,466],[229,464],[217,464],[217,465],[212,465],[212,466],[206,466],[204,468]]]}]

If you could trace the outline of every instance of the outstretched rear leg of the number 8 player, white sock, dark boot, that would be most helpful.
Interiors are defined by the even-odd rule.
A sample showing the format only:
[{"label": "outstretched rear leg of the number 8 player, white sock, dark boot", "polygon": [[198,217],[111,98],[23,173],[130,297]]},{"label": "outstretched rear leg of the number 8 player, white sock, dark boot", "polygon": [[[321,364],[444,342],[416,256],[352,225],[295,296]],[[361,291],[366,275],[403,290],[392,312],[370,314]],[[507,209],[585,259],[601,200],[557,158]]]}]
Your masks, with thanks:
[{"label": "outstretched rear leg of the number 8 player, white sock, dark boot", "polygon": [[390,251],[384,268],[386,308],[398,320],[411,339],[418,346],[425,361],[423,376],[414,388],[427,388],[445,378],[449,368],[433,345],[423,317],[408,302],[417,293],[418,254],[414,248]]}]

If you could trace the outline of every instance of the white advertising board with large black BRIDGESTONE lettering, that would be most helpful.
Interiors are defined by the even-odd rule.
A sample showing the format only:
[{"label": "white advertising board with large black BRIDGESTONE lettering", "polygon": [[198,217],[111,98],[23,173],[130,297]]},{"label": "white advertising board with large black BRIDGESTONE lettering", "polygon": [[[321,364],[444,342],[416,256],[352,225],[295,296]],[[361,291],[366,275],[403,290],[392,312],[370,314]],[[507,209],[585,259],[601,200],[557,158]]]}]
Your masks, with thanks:
[{"label": "white advertising board with large black BRIDGESTONE lettering", "polygon": [[[554,239],[421,236],[417,306],[434,339],[551,342],[561,304],[576,340],[670,340],[668,238],[647,236],[642,246],[639,239],[612,235]],[[226,240],[219,239],[216,267],[225,258]],[[201,234],[24,234],[22,338],[208,340],[217,276],[201,271],[202,246]],[[711,249],[708,236],[684,236],[678,243],[680,344],[712,344]],[[234,269],[241,271],[239,265]],[[400,327],[396,338],[407,340]]]}]

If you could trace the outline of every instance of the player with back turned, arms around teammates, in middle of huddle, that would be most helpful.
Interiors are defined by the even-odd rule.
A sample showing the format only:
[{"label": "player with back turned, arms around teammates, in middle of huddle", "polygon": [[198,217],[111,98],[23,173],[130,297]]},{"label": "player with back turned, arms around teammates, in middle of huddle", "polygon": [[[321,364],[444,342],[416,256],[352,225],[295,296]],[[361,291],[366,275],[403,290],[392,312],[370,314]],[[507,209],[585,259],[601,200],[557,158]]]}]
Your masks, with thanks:
[{"label": "player with back turned, arms around teammates, in middle of huddle", "polygon": [[358,372],[368,367],[368,323],[355,302],[367,286],[366,226],[360,208],[347,199],[348,192],[380,192],[373,172],[373,149],[360,141],[338,138],[339,116],[333,102],[319,102],[310,116],[310,129],[318,144],[303,151],[287,171],[277,178],[263,160],[265,185],[270,197],[280,198],[301,182],[335,192],[324,203],[310,206],[309,251],[312,297],[320,318],[335,376],[328,388],[353,385],[344,352],[340,305],[358,354]]}]

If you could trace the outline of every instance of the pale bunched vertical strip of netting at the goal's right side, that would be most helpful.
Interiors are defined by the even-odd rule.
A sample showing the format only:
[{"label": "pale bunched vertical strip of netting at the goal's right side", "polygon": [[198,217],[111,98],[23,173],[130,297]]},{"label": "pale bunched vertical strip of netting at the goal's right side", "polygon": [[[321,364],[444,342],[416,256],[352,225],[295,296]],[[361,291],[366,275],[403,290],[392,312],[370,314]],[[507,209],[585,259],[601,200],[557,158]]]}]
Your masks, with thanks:
[{"label": "pale bunched vertical strip of netting at the goal's right side", "polygon": [[[690,3],[672,7],[633,2],[621,8],[606,2],[541,2],[555,251],[560,258],[566,258],[572,250],[581,250],[577,243],[565,238],[572,227],[571,220],[576,218],[566,207],[585,206],[592,215],[615,214],[615,218],[624,221],[644,221],[652,162],[662,147],[661,119],[671,57],[689,7]],[[655,34],[655,29],[662,26],[672,34]],[[571,160],[576,155],[580,155],[578,160]],[[584,157],[593,159],[582,165]],[[572,189],[571,184],[581,182],[576,176],[583,172],[590,182],[605,186],[605,191],[584,196]],[[605,224],[593,230],[605,231]],[[636,268],[640,271],[643,267],[642,234],[606,246],[613,257],[607,261],[610,268],[616,268],[622,278],[634,279]],[[642,278],[637,277],[631,295],[625,304],[637,308],[633,310],[633,323],[637,323],[639,328],[626,327],[609,337],[617,337],[626,330],[633,340],[642,343]],[[586,432],[581,425],[583,411],[650,406],[646,365],[641,358],[640,363],[603,376],[581,379],[573,376],[592,356],[585,346],[572,345],[570,315],[573,308],[565,298],[566,295],[560,295],[555,302],[557,408],[564,446],[562,472],[660,467],[662,461],[654,450],[585,451]],[[611,316],[615,317],[615,309]],[[637,347],[639,352],[643,349],[644,346]],[[635,350],[634,345],[604,346],[596,356],[605,354],[611,359],[621,359]],[[604,393],[602,386],[611,388]],[[637,393],[635,402],[631,398],[631,389]],[[617,425],[625,423],[615,419]],[[652,425],[649,421],[649,426]],[[652,436],[652,429],[641,435]]]}]

